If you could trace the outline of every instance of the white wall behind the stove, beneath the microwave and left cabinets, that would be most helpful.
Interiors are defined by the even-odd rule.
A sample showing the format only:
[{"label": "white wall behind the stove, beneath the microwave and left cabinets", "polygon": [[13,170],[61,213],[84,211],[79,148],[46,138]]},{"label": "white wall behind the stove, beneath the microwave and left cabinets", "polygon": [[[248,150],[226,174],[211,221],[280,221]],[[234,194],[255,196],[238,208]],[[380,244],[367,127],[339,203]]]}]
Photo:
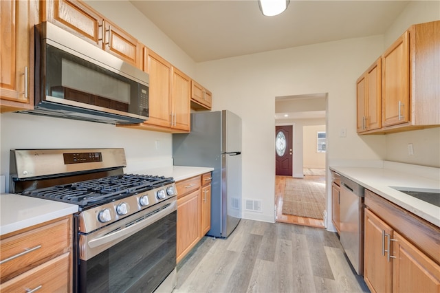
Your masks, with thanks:
[{"label": "white wall behind the stove, beneath the microwave and left cabinets", "polygon": [[[21,113],[1,113],[0,129],[0,173],[7,178],[10,149],[122,147],[126,153],[126,172],[172,164],[172,141],[168,133]],[[156,141],[159,149],[155,147]],[[6,191],[8,186],[7,182]]]}]

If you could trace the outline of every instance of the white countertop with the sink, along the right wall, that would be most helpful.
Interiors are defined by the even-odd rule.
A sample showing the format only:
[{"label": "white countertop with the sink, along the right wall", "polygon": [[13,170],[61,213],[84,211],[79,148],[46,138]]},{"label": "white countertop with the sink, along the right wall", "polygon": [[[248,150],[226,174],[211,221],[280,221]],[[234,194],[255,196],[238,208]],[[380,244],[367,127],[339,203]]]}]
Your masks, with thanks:
[{"label": "white countertop with the sink, along the right wall", "polygon": [[[429,188],[440,189],[440,177],[437,175],[438,169],[428,167],[430,176],[425,176],[423,172],[418,172],[420,166],[414,169],[414,173],[399,171],[395,166],[393,168],[366,168],[350,166],[330,166],[330,169],[340,175],[357,182],[364,188],[381,195],[390,202],[405,208],[406,210],[426,219],[430,223],[440,227],[440,207],[423,202],[406,193],[402,193],[391,186],[409,187],[409,188]],[[422,167],[423,168],[423,167]],[[434,171],[434,173],[432,173]],[[423,175],[423,177],[421,175]]]}]

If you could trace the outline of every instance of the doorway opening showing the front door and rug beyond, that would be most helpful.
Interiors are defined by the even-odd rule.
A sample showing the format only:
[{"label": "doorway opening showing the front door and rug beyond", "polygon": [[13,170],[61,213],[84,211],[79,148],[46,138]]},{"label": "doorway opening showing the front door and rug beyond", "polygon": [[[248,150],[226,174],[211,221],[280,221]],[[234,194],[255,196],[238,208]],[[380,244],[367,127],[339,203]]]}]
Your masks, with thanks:
[{"label": "doorway opening showing the front door and rug beyond", "polygon": [[326,228],[327,94],[277,97],[275,104],[276,221]]}]

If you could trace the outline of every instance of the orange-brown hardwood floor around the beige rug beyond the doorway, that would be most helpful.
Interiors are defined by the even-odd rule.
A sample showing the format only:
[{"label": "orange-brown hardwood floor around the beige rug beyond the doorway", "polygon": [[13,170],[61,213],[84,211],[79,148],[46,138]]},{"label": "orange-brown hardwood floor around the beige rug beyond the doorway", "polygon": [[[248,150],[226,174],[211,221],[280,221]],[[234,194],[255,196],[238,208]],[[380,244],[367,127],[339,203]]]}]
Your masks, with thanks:
[{"label": "orange-brown hardwood floor around the beige rug beyond the doorway", "polygon": [[[294,215],[283,215],[283,195],[286,185],[286,178],[287,176],[275,176],[276,221],[281,223],[325,228],[324,220],[307,218],[307,217],[297,217]],[[313,181],[325,182],[325,176],[305,175],[303,179],[294,178],[293,180],[313,180]]]}]

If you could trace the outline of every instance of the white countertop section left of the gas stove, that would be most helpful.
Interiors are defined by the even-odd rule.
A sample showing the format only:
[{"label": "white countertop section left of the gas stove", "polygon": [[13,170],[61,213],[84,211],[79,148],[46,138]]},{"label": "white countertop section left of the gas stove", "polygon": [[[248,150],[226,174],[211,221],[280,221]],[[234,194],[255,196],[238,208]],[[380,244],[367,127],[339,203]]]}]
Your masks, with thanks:
[{"label": "white countertop section left of the gas stove", "polygon": [[76,204],[3,193],[0,195],[0,235],[77,212]]}]

